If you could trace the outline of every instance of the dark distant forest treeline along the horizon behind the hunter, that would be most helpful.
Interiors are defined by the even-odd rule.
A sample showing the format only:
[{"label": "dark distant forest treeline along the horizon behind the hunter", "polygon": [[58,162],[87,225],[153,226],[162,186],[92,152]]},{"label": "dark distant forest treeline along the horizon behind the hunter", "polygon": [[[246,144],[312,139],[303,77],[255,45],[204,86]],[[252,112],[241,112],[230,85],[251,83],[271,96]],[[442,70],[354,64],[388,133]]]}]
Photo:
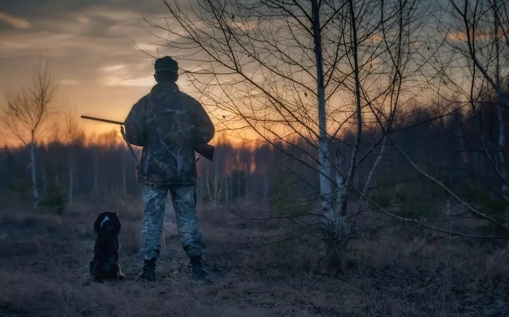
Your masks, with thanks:
[{"label": "dark distant forest treeline along the horizon behind the hunter", "polygon": [[[507,205],[508,194],[500,169],[498,113],[486,106],[477,112],[461,109],[415,107],[395,121],[386,138],[379,129],[362,136],[361,159],[349,193],[349,208],[370,208],[360,198],[365,195],[377,204],[408,216],[430,215],[448,202],[457,202],[446,191],[416,172],[397,144],[423,172],[459,193],[460,197],[490,213]],[[367,131],[367,129],[366,129]],[[504,130],[505,132],[505,130]],[[72,206],[73,198],[114,198],[139,196],[135,181],[136,162],[116,132],[98,137],[81,137],[72,143],[53,138],[38,144],[37,183],[43,205]],[[316,147],[313,141],[292,138],[273,144],[231,142],[227,136],[216,141],[214,162],[205,158],[197,163],[200,200],[210,204],[229,204],[239,198],[270,204],[277,212],[310,210],[319,199]],[[331,179],[348,169],[354,136],[344,133],[330,140],[329,159],[337,168]],[[380,149],[385,143],[381,157]],[[139,149],[136,149],[138,152]],[[343,160],[335,156],[340,152]],[[4,200],[31,200],[30,155],[27,147],[0,150],[0,180]],[[500,155],[501,154],[501,155]],[[369,186],[365,186],[373,164]],[[507,162],[505,160],[505,162]],[[360,198],[360,199],[359,199]],[[438,208],[438,209],[437,209]]]}]

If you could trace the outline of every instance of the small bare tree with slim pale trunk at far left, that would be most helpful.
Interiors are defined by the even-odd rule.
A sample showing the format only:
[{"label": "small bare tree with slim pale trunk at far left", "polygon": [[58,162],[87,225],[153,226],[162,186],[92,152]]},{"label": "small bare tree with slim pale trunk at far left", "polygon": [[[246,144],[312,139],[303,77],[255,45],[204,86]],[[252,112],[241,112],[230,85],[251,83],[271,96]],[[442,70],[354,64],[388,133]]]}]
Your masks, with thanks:
[{"label": "small bare tree with slim pale trunk at far left", "polygon": [[34,208],[39,208],[37,188],[36,142],[51,112],[56,85],[47,63],[39,62],[32,82],[17,91],[6,91],[0,119],[6,131],[16,140],[30,148],[30,170]]}]

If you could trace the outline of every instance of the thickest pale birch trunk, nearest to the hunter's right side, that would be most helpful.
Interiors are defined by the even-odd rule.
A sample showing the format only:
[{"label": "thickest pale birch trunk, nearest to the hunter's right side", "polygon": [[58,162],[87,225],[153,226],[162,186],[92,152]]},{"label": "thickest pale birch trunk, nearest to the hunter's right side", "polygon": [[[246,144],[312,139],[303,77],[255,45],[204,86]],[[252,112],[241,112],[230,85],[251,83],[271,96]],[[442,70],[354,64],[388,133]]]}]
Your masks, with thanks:
[{"label": "thickest pale birch trunk, nearest to the hunter's right side", "polygon": [[315,59],[317,64],[317,92],[318,92],[318,161],[320,173],[320,200],[322,203],[323,223],[326,232],[335,239],[337,229],[337,215],[334,212],[334,195],[330,179],[330,161],[328,159],[329,143],[327,142],[327,119],[325,109],[325,85],[323,79],[322,37],[320,29],[320,14],[318,0],[312,1],[313,36],[315,42]]}]

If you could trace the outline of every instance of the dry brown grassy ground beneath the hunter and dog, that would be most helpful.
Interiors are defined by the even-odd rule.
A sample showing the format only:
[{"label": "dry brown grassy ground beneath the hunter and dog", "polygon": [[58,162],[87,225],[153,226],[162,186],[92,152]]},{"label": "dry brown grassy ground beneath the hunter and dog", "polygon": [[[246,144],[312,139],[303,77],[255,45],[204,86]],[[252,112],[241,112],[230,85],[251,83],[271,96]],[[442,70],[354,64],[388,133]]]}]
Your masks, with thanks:
[{"label": "dry brown grassy ground beneath the hunter and dog", "polygon": [[[105,210],[121,216],[127,278],[93,283],[92,224]],[[1,209],[0,316],[509,316],[506,243],[386,233],[352,242],[338,269],[312,238],[268,243],[285,237],[277,222],[204,207],[213,283],[188,279],[171,213],[159,280],[138,283],[140,213],[127,201],[63,215]]]}]

